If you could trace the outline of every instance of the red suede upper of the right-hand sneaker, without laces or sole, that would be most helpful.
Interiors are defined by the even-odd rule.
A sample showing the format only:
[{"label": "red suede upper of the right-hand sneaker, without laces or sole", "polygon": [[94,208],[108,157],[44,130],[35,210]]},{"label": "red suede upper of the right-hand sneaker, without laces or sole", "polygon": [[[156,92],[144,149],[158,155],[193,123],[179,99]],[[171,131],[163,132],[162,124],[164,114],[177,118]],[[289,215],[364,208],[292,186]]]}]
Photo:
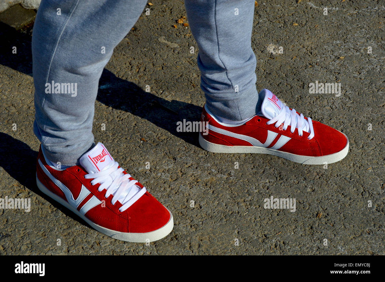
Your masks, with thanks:
[{"label": "red suede upper of the right-hand sneaker, without laces or sole", "polygon": [[[254,118],[241,126],[223,126],[216,122],[203,107],[201,121],[208,121],[210,125],[224,129],[226,131],[253,137],[261,143],[266,141],[268,130],[278,133],[268,148],[274,146],[281,135],[288,136],[291,139],[278,150],[302,156],[318,157],[333,154],[341,151],[346,146],[347,142],[347,139],[343,133],[318,121],[313,121],[313,129],[315,135],[311,140],[307,139],[310,133],[305,131],[303,131],[302,136],[299,136],[297,128],[295,129],[294,133],[291,133],[290,126],[288,126],[286,130],[282,130],[282,126],[276,128],[275,124],[266,124],[269,119],[263,116],[254,116]],[[205,140],[215,144],[226,146],[253,146],[249,142],[242,139],[233,138],[231,136],[217,133],[212,130],[209,130],[208,135],[202,134],[202,136]]]}]

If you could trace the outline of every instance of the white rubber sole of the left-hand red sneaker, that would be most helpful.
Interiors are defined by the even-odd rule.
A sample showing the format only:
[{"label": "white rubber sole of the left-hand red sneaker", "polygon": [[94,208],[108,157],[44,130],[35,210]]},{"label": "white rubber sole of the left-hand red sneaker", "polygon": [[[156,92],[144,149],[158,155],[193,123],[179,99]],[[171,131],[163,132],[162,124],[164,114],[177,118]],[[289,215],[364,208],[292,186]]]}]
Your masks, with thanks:
[{"label": "white rubber sole of the left-hand red sneaker", "polygon": [[87,222],[92,228],[94,228],[96,231],[99,231],[100,233],[103,233],[111,238],[126,241],[126,242],[136,242],[136,243],[146,243],[146,242],[153,242],[157,241],[159,239],[162,239],[166,237],[170,232],[172,231],[172,228],[174,227],[174,219],[172,217],[171,212],[170,213],[170,219],[169,221],[162,226],[161,228],[146,232],[146,233],[127,233],[127,232],[119,232],[115,230],[111,230],[105,227],[102,227],[100,225],[95,224],[94,222],[90,221],[87,217],[85,217],[83,214],[81,214],[77,209],[72,207],[67,201],[64,201],[61,197],[57,196],[56,194],[49,191],[43,184],[40,182],[40,180],[37,178],[36,174],[36,183],[37,187],[39,187],[40,191],[42,191],[47,196],[51,197],[55,201],[59,202],[63,206],[67,207],[67,209],[71,210],[75,214],[77,214],[79,217],[81,217],[85,222]]}]

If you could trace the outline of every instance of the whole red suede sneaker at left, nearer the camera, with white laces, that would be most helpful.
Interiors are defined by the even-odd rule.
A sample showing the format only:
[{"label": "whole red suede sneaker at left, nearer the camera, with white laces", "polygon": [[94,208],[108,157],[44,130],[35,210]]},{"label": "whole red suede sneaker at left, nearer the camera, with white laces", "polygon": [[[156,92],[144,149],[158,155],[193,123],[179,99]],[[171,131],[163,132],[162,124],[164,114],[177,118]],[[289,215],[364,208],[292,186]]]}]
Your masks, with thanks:
[{"label": "whole red suede sneaker at left, nearer the camera, with white laces", "polygon": [[37,186],[94,229],[114,239],[151,242],[171,232],[171,212],[126,173],[102,143],[85,153],[80,164],[57,169],[47,164],[40,146]]}]

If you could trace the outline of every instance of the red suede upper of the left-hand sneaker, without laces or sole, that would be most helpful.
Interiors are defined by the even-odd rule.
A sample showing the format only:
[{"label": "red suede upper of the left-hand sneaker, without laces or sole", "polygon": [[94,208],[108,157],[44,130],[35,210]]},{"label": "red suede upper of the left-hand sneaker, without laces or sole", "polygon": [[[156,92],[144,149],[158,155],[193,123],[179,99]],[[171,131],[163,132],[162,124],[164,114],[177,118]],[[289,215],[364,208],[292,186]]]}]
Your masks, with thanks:
[{"label": "red suede upper of the left-hand sneaker, without laces or sole", "polygon": [[[91,192],[91,194],[79,204],[77,207],[78,211],[88,199],[92,197],[92,195],[102,201],[102,204],[93,207],[85,213],[85,216],[88,219],[99,226],[119,232],[144,233],[161,228],[167,224],[170,219],[169,211],[167,211],[167,209],[149,192],[146,192],[141,196],[131,207],[120,212],[119,207],[121,207],[122,204],[117,201],[115,205],[112,205],[111,200],[113,195],[105,198],[106,190],[103,189],[99,192],[97,190],[99,184],[91,185],[90,182],[92,179],[84,178],[84,175],[87,174],[87,172],[81,166],[72,166],[64,171],[57,171],[45,162],[41,148],[39,149],[38,154],[38,160],[39,159],[52,176],[68,187],[72,192],[74,199],[79,196],[82,184]],[[47,174],[44,173],[42,168],[40,168],[38,161],[37,177],[47,189],[67,201],[62,190],[56,186]],[[132,180],[132,177],[130,179]],[[143,187],[139,182],[137,185]]]}]

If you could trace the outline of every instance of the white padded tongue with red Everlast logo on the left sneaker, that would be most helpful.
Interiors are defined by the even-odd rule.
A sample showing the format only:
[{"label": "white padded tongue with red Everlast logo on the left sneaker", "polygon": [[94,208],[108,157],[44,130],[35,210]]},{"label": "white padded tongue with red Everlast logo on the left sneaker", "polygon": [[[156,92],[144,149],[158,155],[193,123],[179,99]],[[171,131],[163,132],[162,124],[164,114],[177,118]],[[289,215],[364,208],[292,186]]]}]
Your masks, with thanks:
[{"label": "white padded tongue with red Everlast logo on the left sneaker", "polygon": [[114,159],[100,142],[80,158],[80,164],[87,173],[98,173],[114,163]]}]

